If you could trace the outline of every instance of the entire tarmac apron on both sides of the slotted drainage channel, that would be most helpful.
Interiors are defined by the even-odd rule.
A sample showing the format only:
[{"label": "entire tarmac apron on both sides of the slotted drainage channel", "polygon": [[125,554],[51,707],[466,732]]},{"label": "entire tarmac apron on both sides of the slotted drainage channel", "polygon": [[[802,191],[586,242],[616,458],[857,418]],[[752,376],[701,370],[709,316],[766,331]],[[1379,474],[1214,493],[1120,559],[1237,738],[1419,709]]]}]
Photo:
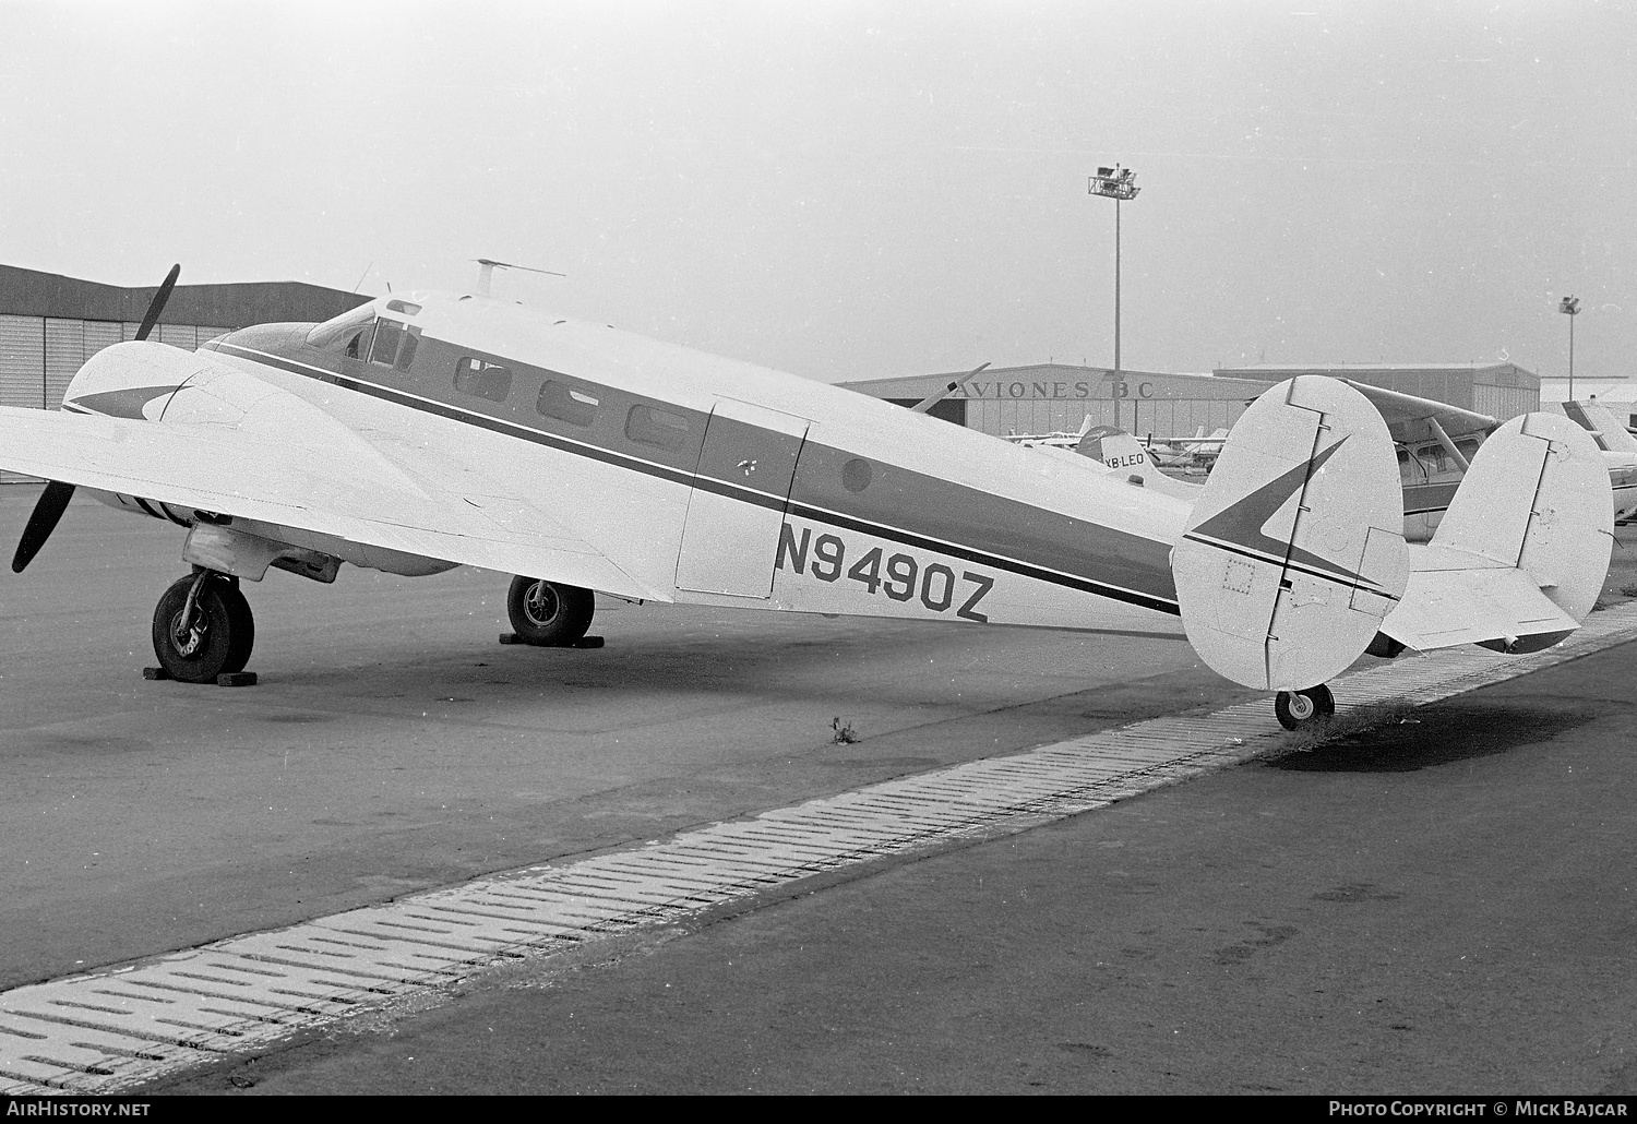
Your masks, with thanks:
[{"label": "entire tarmac apron on both sides of the slotted drainage channel", "polygon": [[[499,646],[506,578],[352,569],[246,586],[262,686],[146,682],[178,551],[75,501],[0,586],[3,987],[1254,697],[1115,635],[627,605]],[[151,1091],[1637,1091],[1630,654]]]}]

